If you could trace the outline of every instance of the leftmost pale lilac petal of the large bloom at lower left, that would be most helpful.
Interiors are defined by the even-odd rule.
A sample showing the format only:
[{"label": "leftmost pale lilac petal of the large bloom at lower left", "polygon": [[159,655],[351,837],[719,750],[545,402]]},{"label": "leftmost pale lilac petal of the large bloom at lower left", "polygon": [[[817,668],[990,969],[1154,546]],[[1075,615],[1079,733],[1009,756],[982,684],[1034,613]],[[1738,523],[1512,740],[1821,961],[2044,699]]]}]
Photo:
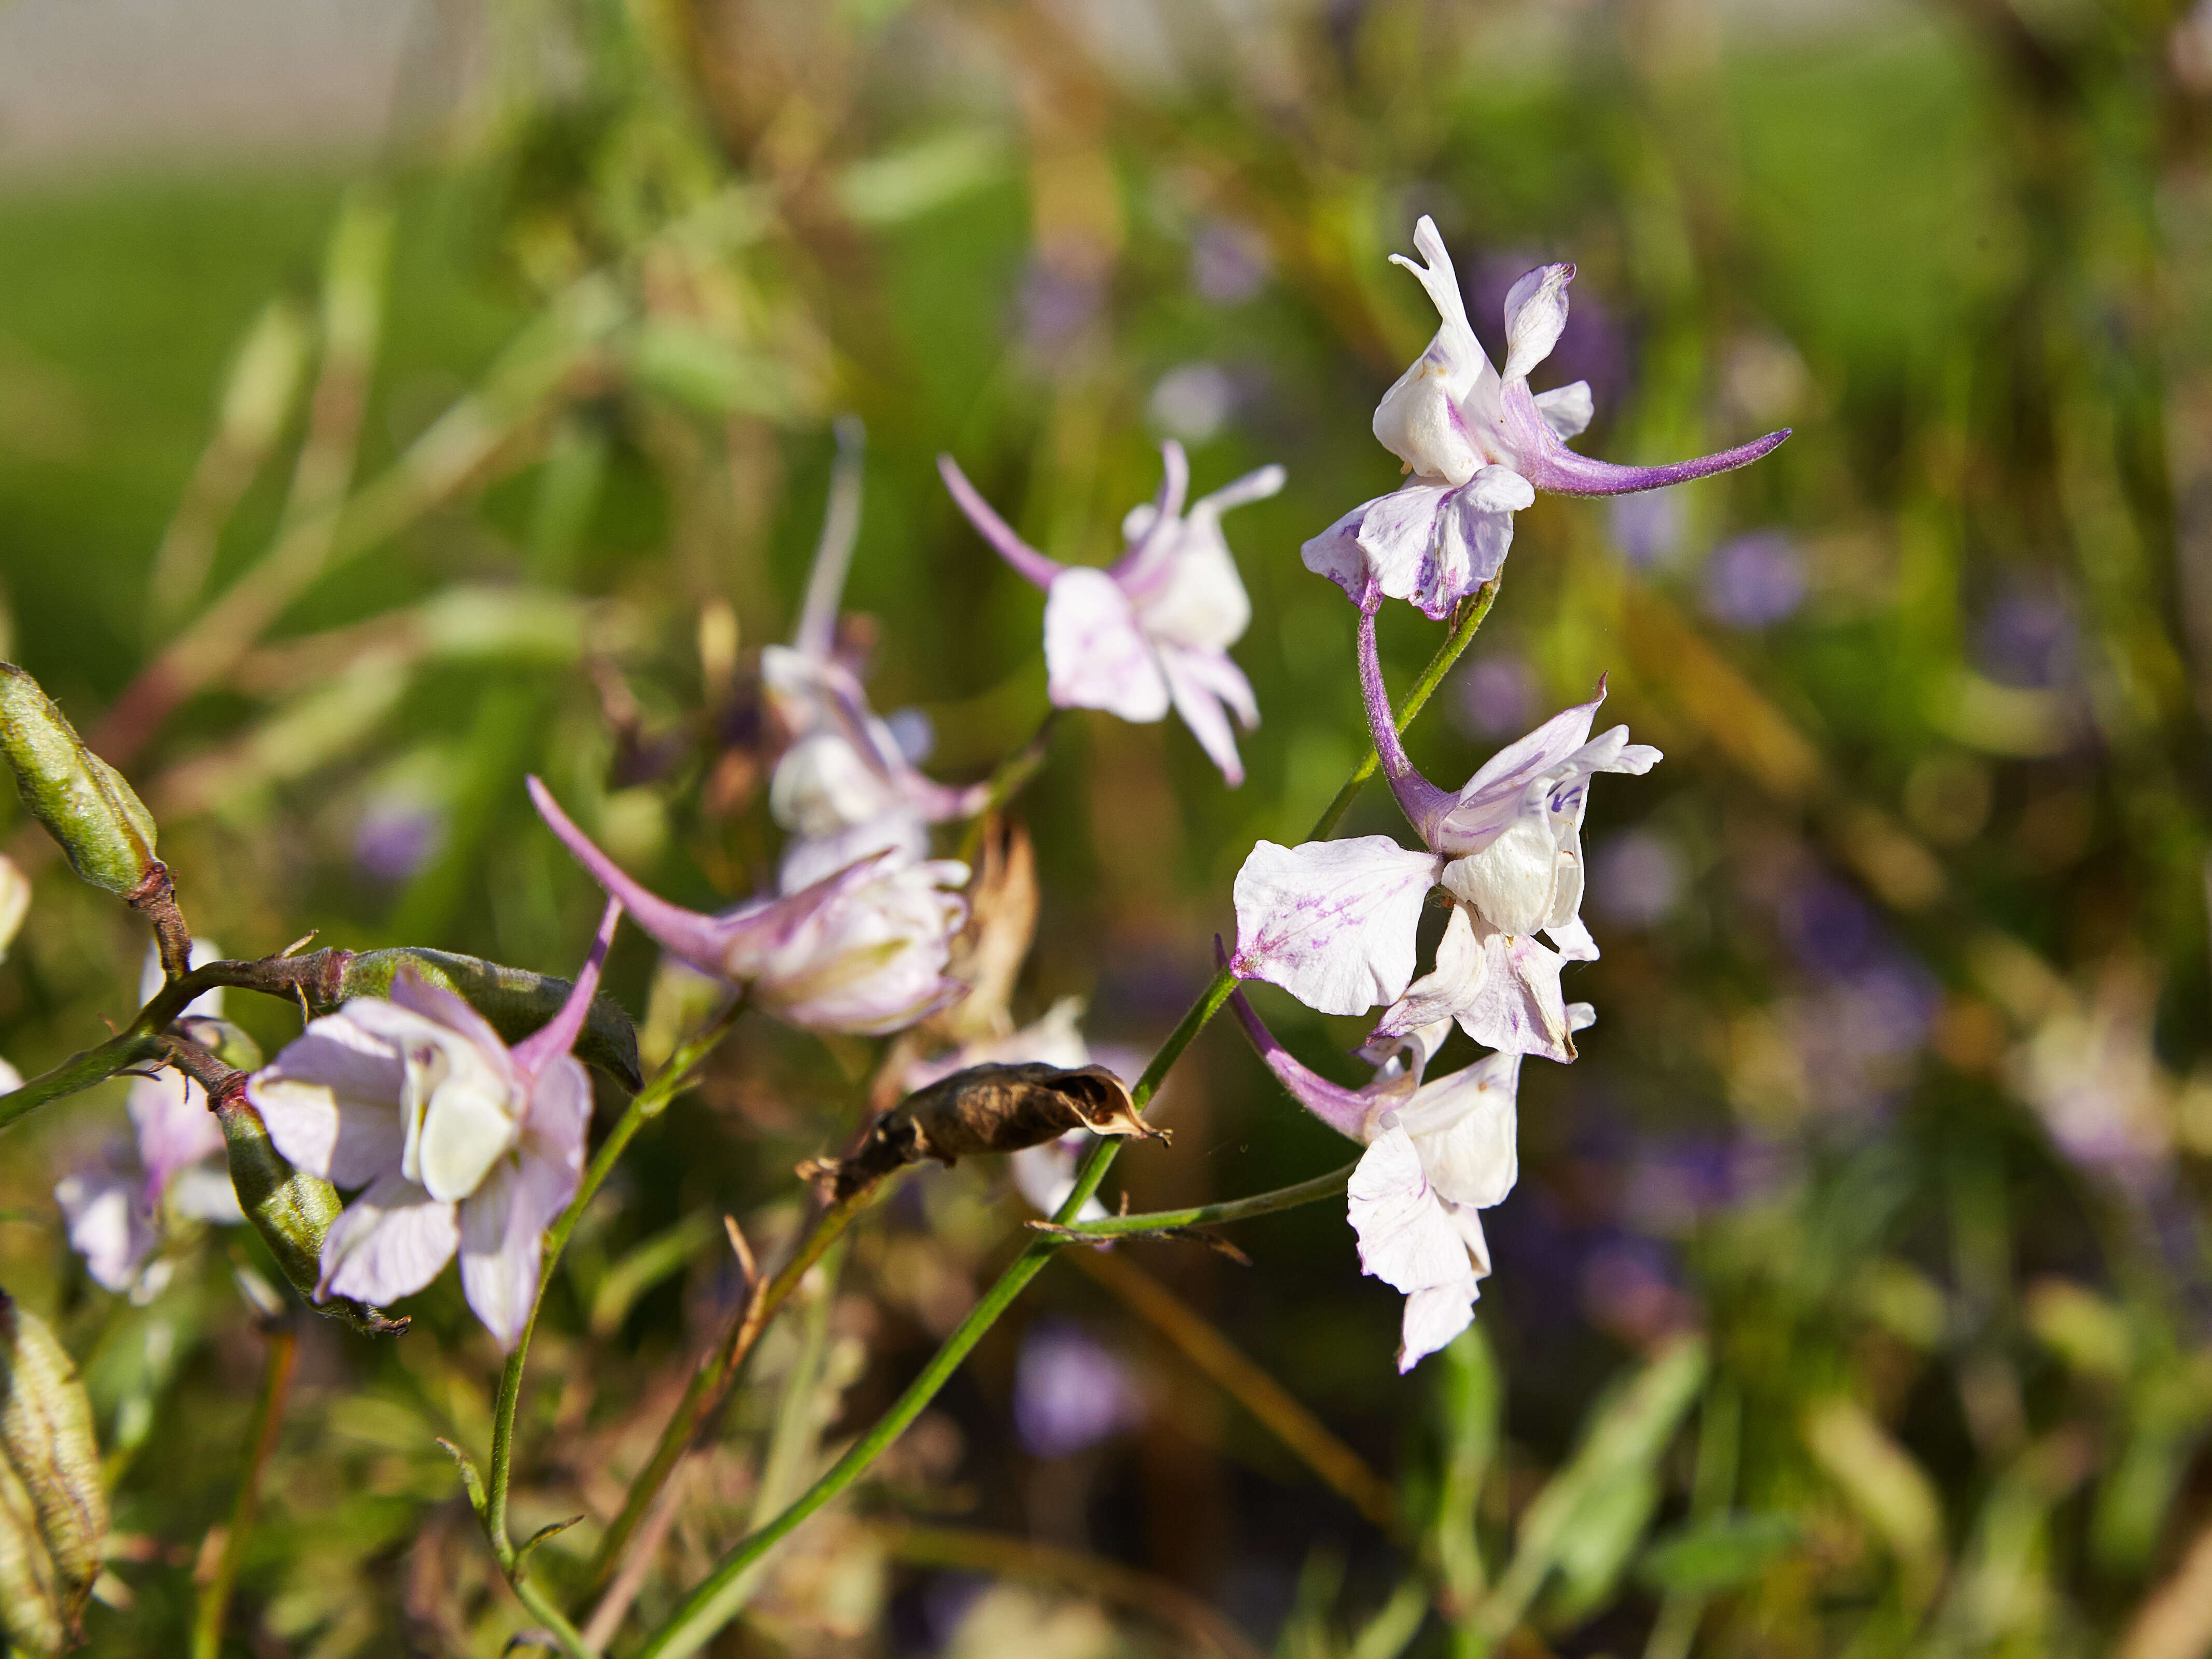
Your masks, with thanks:
[{"label": "leftmost pale lilac petal of the large bloom at lower left", "polygon": [[246,1099],[268,1124],[270,1141],[294,1168],[334,1186],[367,1186],[398,1170],[405,1126],[398,1048],[347,1002],[312,1020],[268,1066],[246,1082]]}]

